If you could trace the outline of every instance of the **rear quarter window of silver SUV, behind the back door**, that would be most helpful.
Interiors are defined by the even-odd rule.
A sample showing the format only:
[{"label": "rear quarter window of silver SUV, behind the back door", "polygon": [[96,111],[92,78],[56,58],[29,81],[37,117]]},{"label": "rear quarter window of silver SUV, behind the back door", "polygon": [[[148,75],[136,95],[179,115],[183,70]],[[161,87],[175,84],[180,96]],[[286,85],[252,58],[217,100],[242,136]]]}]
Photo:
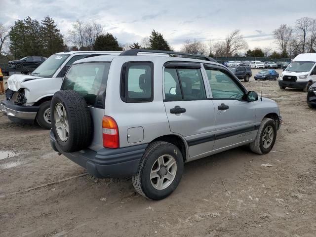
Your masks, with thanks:
[{"label": "rear quarter window of silver SUV, behind the back door", "polygon": [[120,96],[124,102],[152,102],[154,99],[154,64],[152,62],[123,64],[120,87]]}]

